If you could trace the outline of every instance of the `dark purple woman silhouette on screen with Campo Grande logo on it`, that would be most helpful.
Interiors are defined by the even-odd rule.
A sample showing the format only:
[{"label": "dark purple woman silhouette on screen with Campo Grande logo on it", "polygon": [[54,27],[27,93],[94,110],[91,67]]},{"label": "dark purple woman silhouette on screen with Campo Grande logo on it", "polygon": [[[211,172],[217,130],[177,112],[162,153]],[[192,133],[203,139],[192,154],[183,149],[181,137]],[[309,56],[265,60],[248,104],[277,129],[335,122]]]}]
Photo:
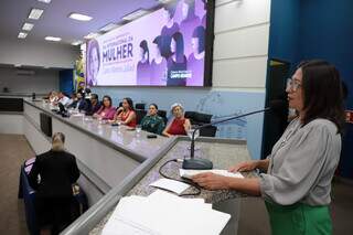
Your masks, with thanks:
[{"label": "dark purple woman silhouette on screen with Campo Grande logo on it", "polygon": [[188,72],[188,61],[184,55],[183,35],[180,32],[172,35],[170,51],[172,55],[168,58],[167,86],[185,86],[184,73]]}]

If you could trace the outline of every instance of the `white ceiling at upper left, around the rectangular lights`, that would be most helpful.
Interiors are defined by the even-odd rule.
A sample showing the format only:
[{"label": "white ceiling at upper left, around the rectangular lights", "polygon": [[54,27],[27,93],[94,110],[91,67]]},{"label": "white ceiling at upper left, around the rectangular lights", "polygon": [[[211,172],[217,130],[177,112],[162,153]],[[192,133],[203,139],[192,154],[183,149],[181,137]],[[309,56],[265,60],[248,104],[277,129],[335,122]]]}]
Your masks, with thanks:
[{"label": "white ceiling at upper left, around the rectangular lights", "polygon": [[[50,4],[36,0],[1,0],[0,39],[18,40],[23,23],[30,22],[34,28],[24,41],[44,41],[46,35],[51,35],[62,38],[62,44],[69,44],[110,22],[120,22],[121,17],[139,8],[157,6],[157,0],[52,0]],[[28,19],[32,8],[44,10],[40,20]],[[72,20],[67,18],[72,12],[90,15],[93,20]]]}]

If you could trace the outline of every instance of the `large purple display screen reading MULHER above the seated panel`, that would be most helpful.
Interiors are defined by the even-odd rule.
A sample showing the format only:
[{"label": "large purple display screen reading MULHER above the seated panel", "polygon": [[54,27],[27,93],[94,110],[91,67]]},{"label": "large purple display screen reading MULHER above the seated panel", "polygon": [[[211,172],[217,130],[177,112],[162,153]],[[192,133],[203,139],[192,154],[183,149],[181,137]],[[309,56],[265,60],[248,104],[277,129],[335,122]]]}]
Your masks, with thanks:
[{"label": "large purple display screen reading MULHER above the seated panel", "polygon": [[211,86],[213,8],[174,1],[88,41],[87,85]]}]

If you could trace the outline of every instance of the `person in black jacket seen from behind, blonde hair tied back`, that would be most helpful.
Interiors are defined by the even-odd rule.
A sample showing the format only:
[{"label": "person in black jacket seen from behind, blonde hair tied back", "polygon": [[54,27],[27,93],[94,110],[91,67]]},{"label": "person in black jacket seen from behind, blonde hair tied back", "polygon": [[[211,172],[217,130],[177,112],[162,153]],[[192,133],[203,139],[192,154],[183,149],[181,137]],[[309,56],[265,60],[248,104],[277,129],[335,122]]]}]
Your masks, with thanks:
[{"label": "person in black jacket seen from behind, blonde hair tied back", "polygon": [[72,223],[72,184],[79,177],[75,156],[65,151],[64,133],[54,133],[52,140],[52,149],[36,157],[29,174],[29,183],[36,190],[34,205],[41,234],[58,234]]}]

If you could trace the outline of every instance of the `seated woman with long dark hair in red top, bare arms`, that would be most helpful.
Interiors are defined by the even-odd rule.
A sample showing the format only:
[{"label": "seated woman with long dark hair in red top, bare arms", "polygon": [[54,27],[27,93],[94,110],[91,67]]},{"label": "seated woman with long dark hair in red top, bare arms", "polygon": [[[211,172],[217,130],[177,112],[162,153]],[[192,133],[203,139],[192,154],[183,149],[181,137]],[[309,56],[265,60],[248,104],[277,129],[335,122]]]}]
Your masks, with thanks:
[{"label": "seated woman with long dark hair in red top, bare arms", "polygon": [[114,116],[114,122],[119,121],[128,127],[136,127],[136,113],[133,110],[133,103],[131,98],[124,98],[122,107],[118,108],[116,115]]}]

